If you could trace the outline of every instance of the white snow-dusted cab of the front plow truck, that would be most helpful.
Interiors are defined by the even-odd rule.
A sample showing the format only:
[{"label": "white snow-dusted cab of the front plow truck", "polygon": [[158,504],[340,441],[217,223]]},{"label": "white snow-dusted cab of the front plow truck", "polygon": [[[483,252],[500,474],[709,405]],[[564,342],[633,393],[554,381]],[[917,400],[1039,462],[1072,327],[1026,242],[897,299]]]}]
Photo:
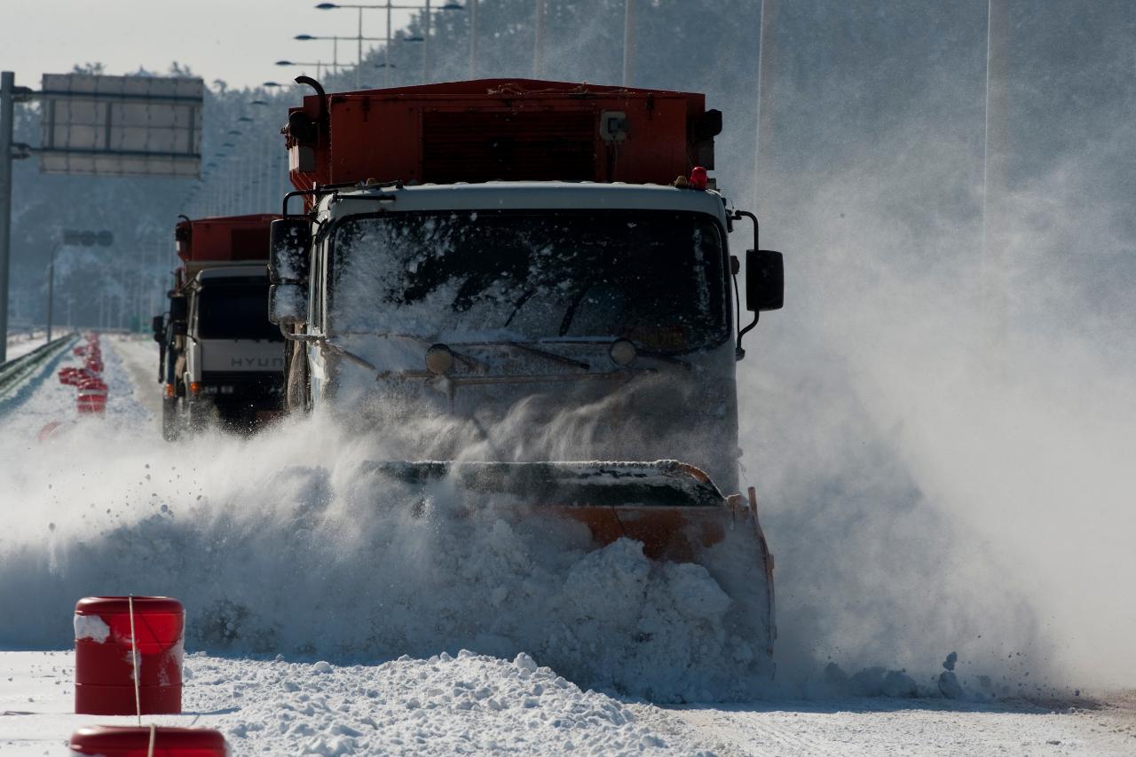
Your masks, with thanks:
[{"label": "white snow-dusted cab of the front plow truck", "polygon": [[[565,435],[515,434],[510,457],[578,444],[677,458],[736,489],[732,222],[717,192],[364,186],[324,198],[315,223],[293,404],[393,429],[523,416]],[[417,454],[468,442],[448,439]]]}]

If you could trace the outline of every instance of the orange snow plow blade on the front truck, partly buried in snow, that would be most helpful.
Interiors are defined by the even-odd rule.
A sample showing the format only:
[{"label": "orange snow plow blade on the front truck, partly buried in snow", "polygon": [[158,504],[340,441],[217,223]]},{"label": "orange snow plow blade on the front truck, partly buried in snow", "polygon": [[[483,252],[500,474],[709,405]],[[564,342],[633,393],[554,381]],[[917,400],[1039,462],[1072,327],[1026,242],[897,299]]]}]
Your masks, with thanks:
[{"label": "orange snow plow blade on the front truck, partly buried in snow", "polygon": [[511,497],[531,513],[577,521],[596,547],[627,538],[652,560],[702,565],[737,606],[732,630],[772,654],[774,560],[753,489],[749,498],[724,496],[705,473],[678,460],[373,465],[411,488],[444,481],[478,499]]}]

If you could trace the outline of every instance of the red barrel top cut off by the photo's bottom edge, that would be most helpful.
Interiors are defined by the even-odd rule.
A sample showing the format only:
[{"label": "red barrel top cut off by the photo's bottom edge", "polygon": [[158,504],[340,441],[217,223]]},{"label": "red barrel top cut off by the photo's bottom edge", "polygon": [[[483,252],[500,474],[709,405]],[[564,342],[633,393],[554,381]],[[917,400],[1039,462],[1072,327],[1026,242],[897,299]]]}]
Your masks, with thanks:
[{"label": "red barrel top cut off by the photo's bottom edge", "polygon": [[[147,757],[150,727],[90,725],[75,731],[72,754],[103,757]],[[225,737],[212,729],[153,729],[154,757],[226,757]]]}]

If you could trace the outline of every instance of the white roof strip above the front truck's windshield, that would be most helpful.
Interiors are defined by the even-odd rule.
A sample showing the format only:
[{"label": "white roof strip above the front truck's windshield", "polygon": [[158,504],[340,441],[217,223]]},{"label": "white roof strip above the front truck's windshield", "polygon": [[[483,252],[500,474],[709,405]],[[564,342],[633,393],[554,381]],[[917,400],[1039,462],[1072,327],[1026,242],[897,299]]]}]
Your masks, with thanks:
[{"label": "white roof strip above the front truck's windshield", "polygon": [[[385,201],[376,202],[379,198]],[[324,198],[329,217],[414,210],[676,210],[705,213],[725,225],[725,202],[715,191],[593,182],[485,182],[360,186]]]}]

